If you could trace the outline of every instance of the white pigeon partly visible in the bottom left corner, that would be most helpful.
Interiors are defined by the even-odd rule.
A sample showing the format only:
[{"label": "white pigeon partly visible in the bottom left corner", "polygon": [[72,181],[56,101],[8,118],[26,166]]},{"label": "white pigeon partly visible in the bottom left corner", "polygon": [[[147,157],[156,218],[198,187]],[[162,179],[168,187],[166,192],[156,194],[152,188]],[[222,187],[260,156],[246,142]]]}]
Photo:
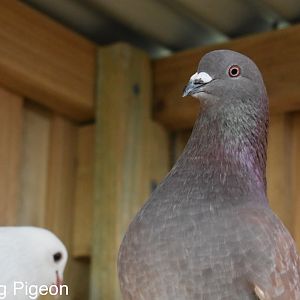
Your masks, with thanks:
[{"label": "white pigeon partly visible in the bottom left corner", "polygon": [[46,229],[0,227],[0,299],[36,299],[40,287],[59,294],[67,258],[64,244]]}]

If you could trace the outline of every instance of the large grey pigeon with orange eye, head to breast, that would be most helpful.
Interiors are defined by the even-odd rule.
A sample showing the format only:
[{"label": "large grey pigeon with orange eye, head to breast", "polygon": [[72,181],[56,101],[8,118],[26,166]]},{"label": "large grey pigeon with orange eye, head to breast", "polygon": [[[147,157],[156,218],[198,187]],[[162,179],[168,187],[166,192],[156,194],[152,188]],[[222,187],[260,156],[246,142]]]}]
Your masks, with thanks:
[{"label": "large grey pigeon with orange eye, head to breast", "polygon": [[295,243],[266,196],[260,71],[243,54],[215,50],[200,60],[187,95],[201,101],[201,114],[123,238],[123,299],[299,300]]}]

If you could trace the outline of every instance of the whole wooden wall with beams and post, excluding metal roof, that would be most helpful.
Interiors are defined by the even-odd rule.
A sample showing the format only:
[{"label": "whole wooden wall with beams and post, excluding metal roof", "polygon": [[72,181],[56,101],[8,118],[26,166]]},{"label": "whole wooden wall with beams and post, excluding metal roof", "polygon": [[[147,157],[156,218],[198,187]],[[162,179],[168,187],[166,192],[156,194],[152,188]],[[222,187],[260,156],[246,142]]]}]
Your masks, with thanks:
[{"label": "whole wooden wall with beams and post, excluding metal roof", "polygon": [[[249,51],[267,78],[268,194],[300,248],[299,33],[216,47]],[[0,38],[0,223],[64,241],[68,299],[119,300],[122,236],[187,141],[199,106],[176,98],[214,47],[153,62],[129,45],[97,47],[15,0],[1,2]]]}]

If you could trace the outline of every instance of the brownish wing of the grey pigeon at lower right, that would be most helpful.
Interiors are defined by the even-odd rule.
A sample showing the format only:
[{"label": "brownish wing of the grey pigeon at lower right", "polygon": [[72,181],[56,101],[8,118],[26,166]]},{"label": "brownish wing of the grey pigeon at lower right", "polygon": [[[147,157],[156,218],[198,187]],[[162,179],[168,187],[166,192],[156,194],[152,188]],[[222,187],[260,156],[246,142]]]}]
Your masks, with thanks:
[{"label": "brownish wing of the grey pigeon at lower right", "polygon": [[260,300],[300,299],[300,260],[291,235],[271,210],[247,214],[256,233],[256,257],[249,257],[254,293]]}]

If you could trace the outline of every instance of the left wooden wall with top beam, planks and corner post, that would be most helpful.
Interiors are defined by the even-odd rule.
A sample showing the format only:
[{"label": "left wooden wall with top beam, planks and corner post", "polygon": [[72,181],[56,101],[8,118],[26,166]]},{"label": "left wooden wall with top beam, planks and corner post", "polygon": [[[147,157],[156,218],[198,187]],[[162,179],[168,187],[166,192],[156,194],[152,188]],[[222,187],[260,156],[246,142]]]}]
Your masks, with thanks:
[{"label": "left wooden wall with top beam, planks and corner post", "polygon": [[0,37],[1,225],[63,240],[62,299],[120,298],[119,243],[169,168],[168,132],[152,121],[151,61],[124,44],[96,51],[14,0],[2,3]]}]

